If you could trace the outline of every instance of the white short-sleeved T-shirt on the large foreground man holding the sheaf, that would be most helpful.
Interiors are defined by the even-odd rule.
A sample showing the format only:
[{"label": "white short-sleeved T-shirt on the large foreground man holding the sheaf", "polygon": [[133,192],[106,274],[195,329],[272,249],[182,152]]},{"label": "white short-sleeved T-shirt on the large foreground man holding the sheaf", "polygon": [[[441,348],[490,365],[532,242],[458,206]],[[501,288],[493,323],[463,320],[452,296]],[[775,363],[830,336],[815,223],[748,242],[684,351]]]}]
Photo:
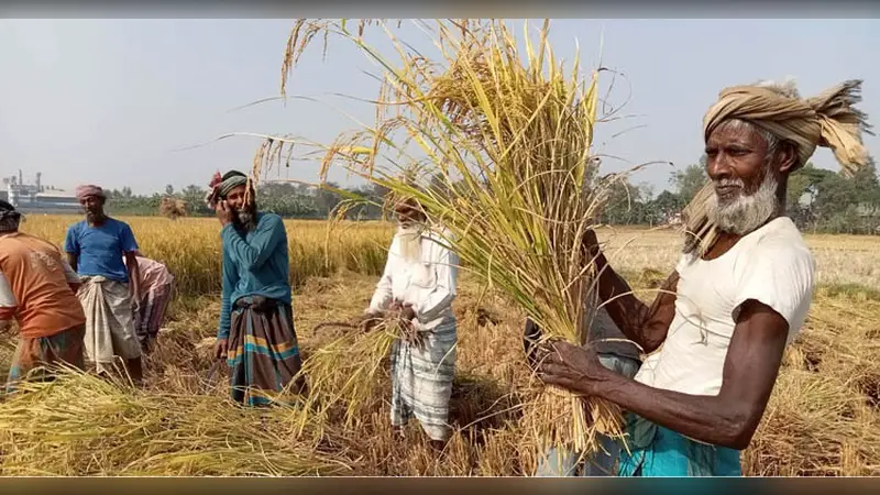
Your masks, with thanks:
[{"label": "white short-sleeved T-shirt on the large foreground man holding the sheaf", "polygon": [[718,395],[745,301],[760,301],[788,321],[787,344],[806,320],[815,261],[787,217],[749,233],[715,260],[684,255],[675,270],[675,316],[662,348],[636,374],[637,382],[691,395]]}]

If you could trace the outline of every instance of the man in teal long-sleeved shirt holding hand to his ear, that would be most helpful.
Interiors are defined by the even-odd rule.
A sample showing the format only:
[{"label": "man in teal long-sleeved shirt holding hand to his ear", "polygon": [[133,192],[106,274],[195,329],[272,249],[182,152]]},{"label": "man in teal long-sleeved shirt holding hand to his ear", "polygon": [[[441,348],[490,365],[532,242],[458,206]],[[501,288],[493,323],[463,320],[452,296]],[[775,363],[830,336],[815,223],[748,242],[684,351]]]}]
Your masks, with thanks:
[{"label": "man in teal long-sleeved shirt holding hand to his ear", "polygon": [[292,380],[296,392],[301,360],[290,307],[287,232],[282,218],[256,209],[254,190],[241,172],[212,184],[208,202],[223,242],[223,296],[217,359],[227,360],[232,398],[249,406],[273,402]]}]

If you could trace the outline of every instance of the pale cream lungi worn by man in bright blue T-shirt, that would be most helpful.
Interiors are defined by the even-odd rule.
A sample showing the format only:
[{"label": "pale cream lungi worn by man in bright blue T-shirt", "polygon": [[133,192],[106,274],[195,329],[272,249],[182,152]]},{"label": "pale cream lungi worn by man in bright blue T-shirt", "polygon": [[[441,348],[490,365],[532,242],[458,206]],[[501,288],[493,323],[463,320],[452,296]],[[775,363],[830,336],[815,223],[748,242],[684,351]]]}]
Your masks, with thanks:
[{"label": "pale cream lungi worn by man in bright blue T-shirt", "polygon": [[116,356],[141,356],[129,284],[101,276],[85,277],[77,295],[86,311],[86,358],[95,363],[98,373],[109,371]]}]

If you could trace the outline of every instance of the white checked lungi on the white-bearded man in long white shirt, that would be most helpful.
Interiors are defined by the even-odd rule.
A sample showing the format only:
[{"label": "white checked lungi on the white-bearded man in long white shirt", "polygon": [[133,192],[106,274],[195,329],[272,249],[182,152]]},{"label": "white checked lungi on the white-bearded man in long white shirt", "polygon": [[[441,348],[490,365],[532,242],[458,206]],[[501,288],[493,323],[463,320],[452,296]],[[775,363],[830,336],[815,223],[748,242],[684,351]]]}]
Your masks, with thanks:
[{"label": "white checked lungi on the white-bearded man in long white shirt", "polygon": [[455,374],[455,318],[448,317],[419,349],[398,339],[392,349],[392,425],[416,417],[431,440],[449,438],[449,398]]}]

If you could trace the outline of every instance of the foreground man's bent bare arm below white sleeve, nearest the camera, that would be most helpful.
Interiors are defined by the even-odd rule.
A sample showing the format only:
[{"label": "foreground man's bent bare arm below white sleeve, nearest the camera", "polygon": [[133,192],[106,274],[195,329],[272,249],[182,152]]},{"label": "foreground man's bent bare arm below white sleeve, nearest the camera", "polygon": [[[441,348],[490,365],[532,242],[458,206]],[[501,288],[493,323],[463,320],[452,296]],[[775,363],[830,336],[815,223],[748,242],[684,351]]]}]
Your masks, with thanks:
[{"label": "foreground man's bent bare arm below white sleeve, nearest the camera", "polygon": [[[751,441],[767,408],[788,330],[785,319],[768,306],[755,300],[744,304],[717,396],[652,388],[601,365],[592,372],[596,380],[582,380],[586,386],[580,388],[686,437],[743,450]],[[571,382],[576,387],[576,381]]]}]

